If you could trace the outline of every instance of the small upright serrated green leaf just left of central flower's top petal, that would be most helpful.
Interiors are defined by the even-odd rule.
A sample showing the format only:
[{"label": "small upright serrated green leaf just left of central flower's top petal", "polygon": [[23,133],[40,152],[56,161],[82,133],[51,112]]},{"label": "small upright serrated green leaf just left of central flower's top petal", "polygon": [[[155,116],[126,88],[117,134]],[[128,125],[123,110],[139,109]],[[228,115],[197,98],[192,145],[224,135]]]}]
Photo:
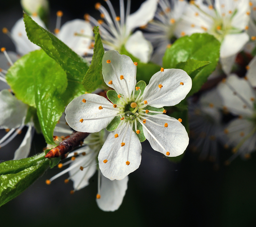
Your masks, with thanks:
[{"label": "small upright serrated green leaf just left of central flower's top petal", "polygon": [[87,92],[96,90],[101,84],[105,84],[102,76],[102,57],[104,48],[101,42],[99,26],[94,26],[95,44],[93,49],[92,63],[83,78],[82,85]]}]

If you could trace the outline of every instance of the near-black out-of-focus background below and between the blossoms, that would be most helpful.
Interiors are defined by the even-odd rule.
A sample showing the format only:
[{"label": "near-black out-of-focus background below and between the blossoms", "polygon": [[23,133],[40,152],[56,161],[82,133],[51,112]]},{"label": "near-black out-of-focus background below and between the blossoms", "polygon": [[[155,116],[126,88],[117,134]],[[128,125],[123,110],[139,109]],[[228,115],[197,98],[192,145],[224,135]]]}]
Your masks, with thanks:
[{"label": "near-black out-of-focus background below and between the blossoms", "polygon": [[[89,13],[99,19],[94,1],[49,1],[49,29],[54,30],[56,12],[63,11],[62,23],[83,19]],[[119,8],[119,1],[111,1]],[[131,12],[143,1],[133,1]],[[106,6],[104,1],[101,3]],[[118,13],[117,13],[118,14]],[[19,0],[1,0],[0,28],[11,30],[22,17]],[[0,33],[0,46],[15,51],[12,41]],[[13,158],[26,129],[0,149],[0,159]],[[0,138],[4,132],[0,131]],[[35,135],[30,155],[45,147],[44,138]],[[90,185],[70,195],[72,182],[64,175],[46,185],[45,180],[59,172],[48,170],[25,192],[0,208],[0,226],[256,226],[256,155],[243,161],[223,163],[232,154],[220,148],[220,167],[198,161],[198,154],[186,151],[175,164],[142,143],[140,168],[129,175],[128,189],[118,211],[103,212],[96,202],[97,174]]]}]

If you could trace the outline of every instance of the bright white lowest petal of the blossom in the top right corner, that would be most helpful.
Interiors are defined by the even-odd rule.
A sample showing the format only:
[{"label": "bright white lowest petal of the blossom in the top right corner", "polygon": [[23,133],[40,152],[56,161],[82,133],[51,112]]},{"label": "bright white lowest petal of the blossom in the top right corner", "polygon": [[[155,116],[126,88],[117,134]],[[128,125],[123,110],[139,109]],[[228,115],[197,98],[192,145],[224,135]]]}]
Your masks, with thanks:
[{"label": "bright white lowest petal of the blossom in the top right corner", "polygon": [[226,58],[237,54],[248,41],[249,36],[246,32],[225,35],[220,46],[220,57]]}]

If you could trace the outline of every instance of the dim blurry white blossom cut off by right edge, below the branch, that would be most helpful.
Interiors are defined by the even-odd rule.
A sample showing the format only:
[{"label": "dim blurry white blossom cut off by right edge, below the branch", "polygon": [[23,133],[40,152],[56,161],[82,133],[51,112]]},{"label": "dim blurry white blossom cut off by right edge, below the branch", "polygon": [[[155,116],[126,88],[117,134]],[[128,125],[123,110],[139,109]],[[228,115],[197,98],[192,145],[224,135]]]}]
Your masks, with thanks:
[{"label": "dim blurry white blossom cut off by right edge, below the branch", "polygon": [[255,90],[248,80],[232,74],[228,79],[219,84],[218,90],[223,99],[223,105],[239,118],[232,120],[224,132],[228,136],[227,146],[233,146],[235,153],[227,164],[241,155],[249,158],[256,147],[256,110]]}]

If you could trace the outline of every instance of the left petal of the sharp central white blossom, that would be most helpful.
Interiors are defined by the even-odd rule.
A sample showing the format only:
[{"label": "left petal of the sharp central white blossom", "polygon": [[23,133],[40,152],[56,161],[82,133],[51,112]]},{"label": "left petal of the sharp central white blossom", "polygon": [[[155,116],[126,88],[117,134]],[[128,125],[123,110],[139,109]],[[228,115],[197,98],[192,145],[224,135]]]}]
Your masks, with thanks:
[{"label": "left petal of the sharp central white blossom", "polygon": [[[71,128],[78,132],[99,132],[101,129],[107,127],[109,123],[114,119],[114,116],[108,116],[118,113],[114,110],[105,109],[104,105],[94,104],[91,102],[84,103],[82,101],[83,99],[103,104],[112,104],[107,99],[97,94],[83,94],[72,100],[68,104],[65,111],[66,121]],[[103,109],[99,110],[99,106],[103,106]],[[98,120],[85,120],[99,117],[106,118]],[[80,119],[83,119],[83,122],[80,122]]]}]

